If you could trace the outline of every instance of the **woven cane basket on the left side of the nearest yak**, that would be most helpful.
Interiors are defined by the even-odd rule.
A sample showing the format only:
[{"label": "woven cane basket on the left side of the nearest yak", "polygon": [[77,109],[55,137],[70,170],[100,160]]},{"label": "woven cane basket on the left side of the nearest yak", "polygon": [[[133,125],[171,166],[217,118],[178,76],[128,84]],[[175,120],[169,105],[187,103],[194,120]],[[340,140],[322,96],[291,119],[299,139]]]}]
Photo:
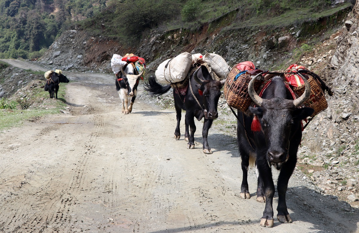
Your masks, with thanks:
[{"label": "woven cane basket on the left side of the nearest yak", "polygon": [[[252,99],[248,94],[248,84],[252,78],[246,76],[246,74],[242,74],[237,80],[234,80],[236,75],[240,72],[241,71],[237,69],[237,65],[230,70],[224,83],[223,92],[228,106],[244,112],[252,102]],[[260,85],[261,81],[257,79],[254,83],[255,91],[258,90]]]}]

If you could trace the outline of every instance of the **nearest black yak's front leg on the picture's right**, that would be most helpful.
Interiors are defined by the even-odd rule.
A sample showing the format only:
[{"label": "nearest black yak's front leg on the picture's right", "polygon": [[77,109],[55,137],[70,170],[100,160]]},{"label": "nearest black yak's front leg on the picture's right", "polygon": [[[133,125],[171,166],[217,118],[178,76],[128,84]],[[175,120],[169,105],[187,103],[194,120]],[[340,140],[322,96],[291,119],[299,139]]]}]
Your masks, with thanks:
[{"label": "nearest black yak's front leg on the picture's right", "polygon": [[277,206],[277,219],[281,223],[292,223],[292,219],[288,213],[286,201],[285,201],[285,194],[288,188],[288,181],[290,176],[292,175],[295,164],[297,163],[297,153],[293,153],[289,155],[288,161],[282,165],[280,169],[277,189],[278,189],[278,206]]}]

